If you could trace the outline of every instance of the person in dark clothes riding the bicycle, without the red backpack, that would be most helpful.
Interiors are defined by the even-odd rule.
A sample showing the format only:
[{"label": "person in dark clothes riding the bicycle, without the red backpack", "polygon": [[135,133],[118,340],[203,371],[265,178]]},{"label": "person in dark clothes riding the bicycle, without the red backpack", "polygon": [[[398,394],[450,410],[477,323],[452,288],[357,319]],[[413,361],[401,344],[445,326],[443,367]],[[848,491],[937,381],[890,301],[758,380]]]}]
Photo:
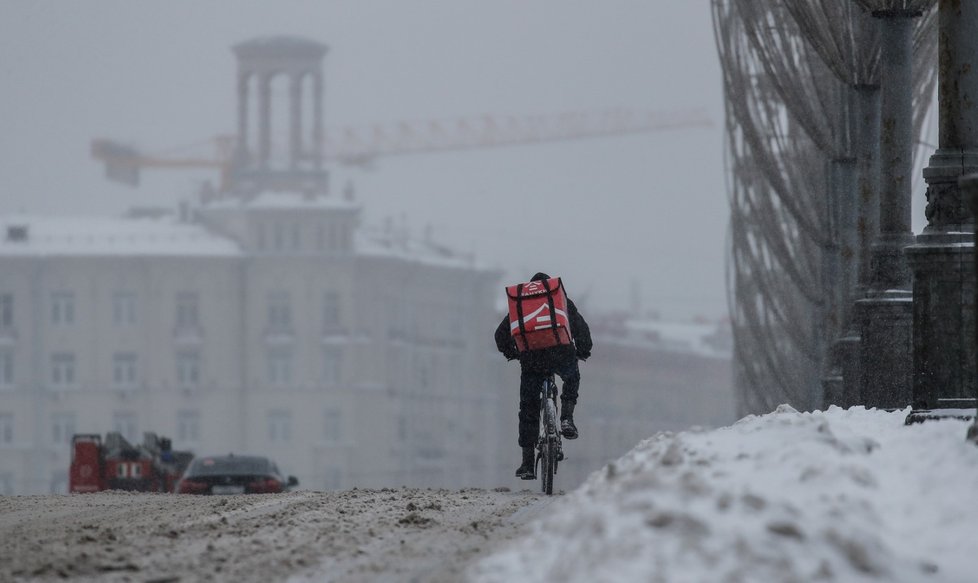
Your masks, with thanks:
[{"label": "person in dark clothes riding the bicycle, without the red backpack", "polygon": [[[546,273],[537,273],[530,281],[548,279],[550,276]],[[504,317],[496,328],[499,352],[506,360],[520,360],[519,445],[523,449],[523,462],[516,469],[516,477],[524,480],[536,479],[533,446],[540,425],[540,386],[551,374],[559,376],[564,385],[560,395],[560,432],[567,439],[577,439],[574,407],[581,383],[577,361],[587,360],[591,356],[591,331],[570,298],[567,299],[567,311],[573,344],[520,352],[510,332],[509,317]]]}]

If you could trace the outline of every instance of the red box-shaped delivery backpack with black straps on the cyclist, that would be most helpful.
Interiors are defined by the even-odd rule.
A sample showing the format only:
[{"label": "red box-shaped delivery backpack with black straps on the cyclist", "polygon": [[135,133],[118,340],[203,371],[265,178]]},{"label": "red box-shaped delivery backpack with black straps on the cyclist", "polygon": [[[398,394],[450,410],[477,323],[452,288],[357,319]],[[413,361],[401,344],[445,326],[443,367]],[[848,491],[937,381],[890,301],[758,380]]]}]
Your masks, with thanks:
[{"label": "red box-shaped delivery backpack with black straps on the cyclist", "polygon": [[571,344],[567,293],[559,277],[506,287],[509,331],[520,352]]}]

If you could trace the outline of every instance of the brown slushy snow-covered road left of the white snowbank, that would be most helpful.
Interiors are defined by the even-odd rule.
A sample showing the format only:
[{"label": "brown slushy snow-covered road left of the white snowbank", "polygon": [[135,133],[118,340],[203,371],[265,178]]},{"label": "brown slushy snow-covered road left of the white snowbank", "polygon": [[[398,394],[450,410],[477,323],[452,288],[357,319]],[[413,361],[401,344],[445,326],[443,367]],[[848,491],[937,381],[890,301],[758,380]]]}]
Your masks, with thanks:
[{"label": "brown slushy snow-covered road left of the white snowbank", "polygon": [[458,581],[549,500],[475,489],[0,497],[0,581]]}]

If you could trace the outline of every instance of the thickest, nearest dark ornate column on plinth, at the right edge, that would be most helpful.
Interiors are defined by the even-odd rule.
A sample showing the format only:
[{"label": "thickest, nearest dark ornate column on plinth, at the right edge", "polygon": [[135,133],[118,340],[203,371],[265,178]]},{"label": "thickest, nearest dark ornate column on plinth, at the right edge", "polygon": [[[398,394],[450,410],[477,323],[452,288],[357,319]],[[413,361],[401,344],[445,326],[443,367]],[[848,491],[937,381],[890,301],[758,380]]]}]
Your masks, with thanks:
[{"label": "thickest, nearest dark ornate column on plinth, at the right edge", "polygon": [[978,172],[978,2],[940,0],[940,143],[924,169],[927,227],[907,248],[914,275],[913,403],[975,406],[974,233],[958,179]]}]

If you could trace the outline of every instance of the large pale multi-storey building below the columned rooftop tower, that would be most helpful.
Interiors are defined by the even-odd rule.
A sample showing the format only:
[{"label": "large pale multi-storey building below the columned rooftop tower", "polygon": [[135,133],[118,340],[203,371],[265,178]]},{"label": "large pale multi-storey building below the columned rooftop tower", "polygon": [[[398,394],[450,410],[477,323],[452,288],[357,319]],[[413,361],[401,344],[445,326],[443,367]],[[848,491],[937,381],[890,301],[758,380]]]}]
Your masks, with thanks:
[{"label": "large pale multi-storey building below the columned rooftop tower", "polygon": [[271,455],[310,488],[490,479],[496,274],[358,213],[266,193],[0,218],[0,492],[64,491],[71,435],[107,431]]}]

